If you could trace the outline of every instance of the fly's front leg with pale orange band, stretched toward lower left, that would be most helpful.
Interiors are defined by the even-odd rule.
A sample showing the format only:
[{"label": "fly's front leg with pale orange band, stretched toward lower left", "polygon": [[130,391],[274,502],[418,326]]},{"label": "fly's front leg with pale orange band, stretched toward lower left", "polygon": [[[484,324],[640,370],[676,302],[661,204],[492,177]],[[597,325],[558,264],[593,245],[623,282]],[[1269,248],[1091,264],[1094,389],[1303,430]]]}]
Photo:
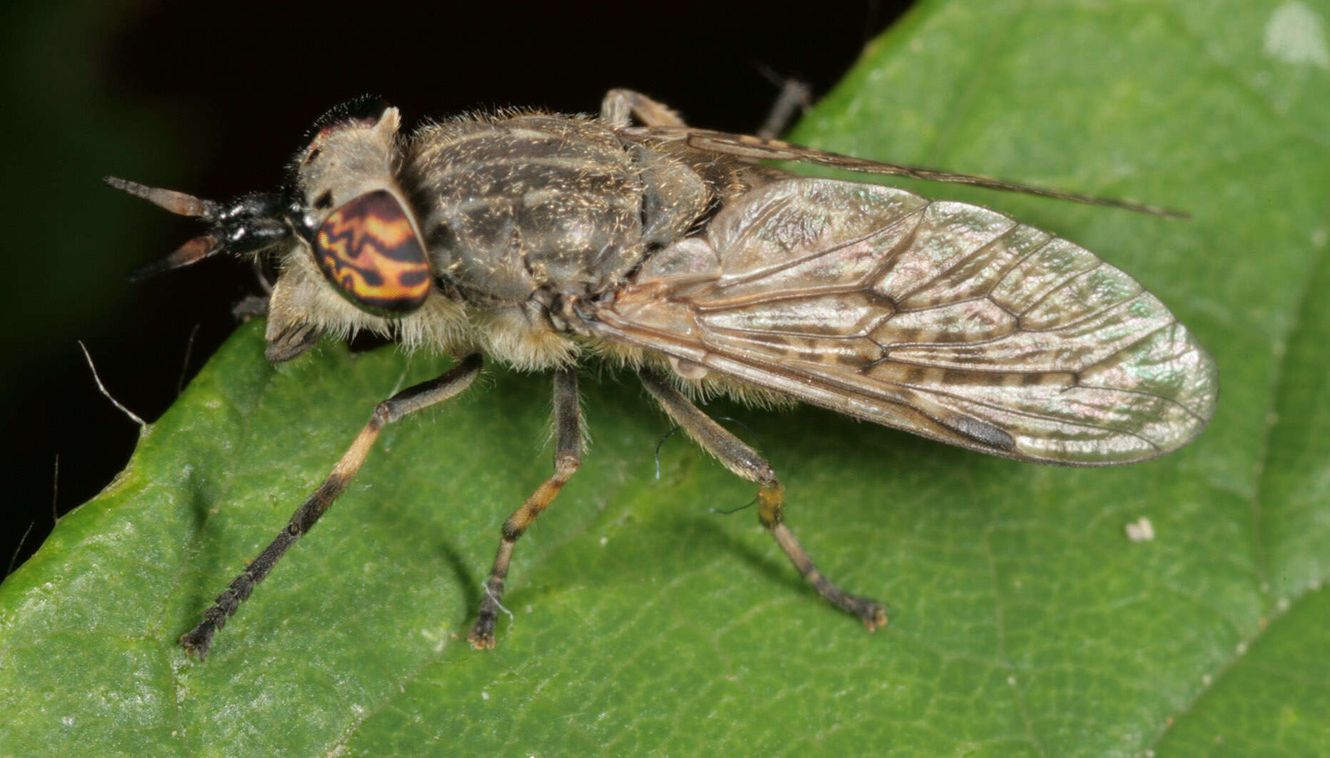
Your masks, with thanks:
[{"label": "fly's front leg with pale orange band, stretched toward lower left", "polygon": [[277,535],[277,539],[246,567],[243,573],[231,581],[225,592],[217,596],[215,605],[203,613],[203,621],[180,638],[185,650],[197,653],[200,658],[207,656],[209,648],[213,646],[213,636],[226,625],[226,620],[254,592],[254,585],[263,581],[263,577],[273,570],[273,567],[295,544],[295,540],[309,532],[319,516],[329,509],[329,505],[332,505],[338,495],[351,484],[383,427],[462,392],[480,372],[480,366],[479,354],[468,355],[443,376],[408,387],[379,403],[374,408],[374,415],[370,416],[370,423],[364,424],[355,442],[342,455],[342,460],[332,467],[332,473],[295,509],[291,521]]}]

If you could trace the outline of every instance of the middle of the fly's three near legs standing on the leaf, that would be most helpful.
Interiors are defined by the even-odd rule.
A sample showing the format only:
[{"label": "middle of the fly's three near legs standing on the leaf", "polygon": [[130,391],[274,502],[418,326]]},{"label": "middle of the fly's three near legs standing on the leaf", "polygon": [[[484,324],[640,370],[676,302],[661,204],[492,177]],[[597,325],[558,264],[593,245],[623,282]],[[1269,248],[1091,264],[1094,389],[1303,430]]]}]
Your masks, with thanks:
[{"label": "middle of the fly's three near legs standing on the leaf", "polygon": [[489,649],[495,646],[495,620],[503,608],[504,582],[508,578],[508,565],[512,563],[512,549],[527,527],[540,516],[568,484],[577,467],[581,465],[583,432],[581,408],[577,403],[577,371],[560,368],[555,372],[555,473],[517,508],[503,525],[499,552],[495,565],[485,580],[485,596],[480,600],[480,613],[471,626],[467,641],[472,648]]}]

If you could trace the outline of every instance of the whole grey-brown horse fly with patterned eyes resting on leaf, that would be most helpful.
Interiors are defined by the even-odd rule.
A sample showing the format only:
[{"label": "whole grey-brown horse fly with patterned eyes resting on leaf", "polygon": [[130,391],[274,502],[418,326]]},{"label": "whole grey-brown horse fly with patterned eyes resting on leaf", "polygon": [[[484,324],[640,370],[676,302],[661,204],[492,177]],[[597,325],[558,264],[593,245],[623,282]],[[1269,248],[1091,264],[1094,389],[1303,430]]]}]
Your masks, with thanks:
[{"label": "whole grey-brown horse fly with patterned eyes resting on leaf", "polygon": [[664,411],[757,484],[758,517],[818,594],[868,629],[785,521],[767,461],[690,398],[802,400],[1039,463],[1112,465],[1177,449],[1214,408],[1205,348],[1088,250],[975,205],[806,178],[763,161],[1132,203],[878,164],[694,129],[612,90],[600,117],[468,114],[399,134],[371,98],[319,118],[274,193],[227,203],[106,184],[207,223],[133,275],[218,253],[267,255],[266,356],[366,330],[458,358],[383,400],[331,475],[181,644],[203,657],[254,585],[327,511],[384,426],[447,400],[483,355],[553,372],[555,473],[504,523],[468,640],[495,644],[513,547],[577,471],[577,367],[632,368]]}]

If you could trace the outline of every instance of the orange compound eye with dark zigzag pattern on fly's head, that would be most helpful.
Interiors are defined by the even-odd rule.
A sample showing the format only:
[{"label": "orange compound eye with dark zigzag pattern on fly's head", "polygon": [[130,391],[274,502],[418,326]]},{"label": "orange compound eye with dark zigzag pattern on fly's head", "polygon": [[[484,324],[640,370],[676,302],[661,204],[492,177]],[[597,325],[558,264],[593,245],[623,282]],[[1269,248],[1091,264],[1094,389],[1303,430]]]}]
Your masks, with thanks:
[{"label": "orange compound eye with dark zigzag pattern on fly's head", "polygon": [[366,193],[332,211],[314,235],[314,258],[356,306],[400,315],[430,294],[430,262],[411,217],[387,190]]}]

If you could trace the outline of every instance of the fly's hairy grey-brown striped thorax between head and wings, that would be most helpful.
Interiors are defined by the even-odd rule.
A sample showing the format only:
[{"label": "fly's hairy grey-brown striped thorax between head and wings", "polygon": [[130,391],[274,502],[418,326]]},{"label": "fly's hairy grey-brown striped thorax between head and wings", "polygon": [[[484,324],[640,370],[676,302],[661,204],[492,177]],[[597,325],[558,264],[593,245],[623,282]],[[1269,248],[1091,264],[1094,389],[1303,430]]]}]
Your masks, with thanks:
[{"label": "fly's hairy grey-brown striped thorax between head and wings", "polygon": [[712,198],[682,162],[591,118],[456,118],[418,130],[404,158],[440,286],[467,305],[484,347],[517,366],[569,359],[559,306],[622,285]]}]

